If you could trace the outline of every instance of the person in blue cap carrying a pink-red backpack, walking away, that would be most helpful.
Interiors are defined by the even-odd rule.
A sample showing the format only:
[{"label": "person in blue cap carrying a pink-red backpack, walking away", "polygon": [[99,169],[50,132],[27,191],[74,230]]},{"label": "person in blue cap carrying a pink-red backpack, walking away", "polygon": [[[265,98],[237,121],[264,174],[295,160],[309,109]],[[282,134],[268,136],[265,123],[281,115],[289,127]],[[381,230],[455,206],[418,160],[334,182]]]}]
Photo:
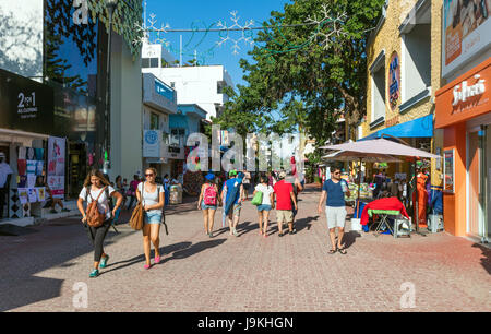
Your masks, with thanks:
[{"label": "person in blue cap carrying a pink-red backpack, walking away", "polygon": [[203,210],[203,220],[206,234],[213,238],[213,225],[215,223],[216,208],[221,205],[218,196],[218,187],[215,183],[215,175],[209,172],[205,177],[206,181],[201,187],[197,210]]}]

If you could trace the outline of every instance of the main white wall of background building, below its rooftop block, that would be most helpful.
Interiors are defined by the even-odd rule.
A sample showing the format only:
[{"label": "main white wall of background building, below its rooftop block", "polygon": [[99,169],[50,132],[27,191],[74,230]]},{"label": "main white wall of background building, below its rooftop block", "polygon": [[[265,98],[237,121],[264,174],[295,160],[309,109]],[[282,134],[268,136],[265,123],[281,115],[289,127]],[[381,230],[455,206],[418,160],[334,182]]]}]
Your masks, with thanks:
[{"label": "main white wall of background building, below its rooftop block", "polygon": [[215,104],[224,105],[228,97],[217,93],[218,82],[232,86],[230,75],[223,65],[142,69],[153,73],[177,91],[178,104],[196,104],[207,112],[206,119],[216,117]]}]

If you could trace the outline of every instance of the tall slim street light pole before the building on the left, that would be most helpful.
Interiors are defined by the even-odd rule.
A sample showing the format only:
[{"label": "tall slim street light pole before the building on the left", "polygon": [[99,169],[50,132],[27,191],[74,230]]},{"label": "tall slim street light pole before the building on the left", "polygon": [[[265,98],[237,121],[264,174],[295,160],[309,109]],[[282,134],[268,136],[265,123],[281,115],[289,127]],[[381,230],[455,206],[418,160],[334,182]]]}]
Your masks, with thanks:
[{"label": "tall slim street light pole before the building on the left", "polygon": [[118,5],[119,0],[106,0],[106,8],[109,13],[109,32],[107,35],[107,90],[106,90],[106,112],[105,112],[105,144],[104,144],[104,172],[110,169],[110,150],[111,150],[111,134],[110,134],[110,69],[111,69],[111,35],[112,35],[112,14]]}]

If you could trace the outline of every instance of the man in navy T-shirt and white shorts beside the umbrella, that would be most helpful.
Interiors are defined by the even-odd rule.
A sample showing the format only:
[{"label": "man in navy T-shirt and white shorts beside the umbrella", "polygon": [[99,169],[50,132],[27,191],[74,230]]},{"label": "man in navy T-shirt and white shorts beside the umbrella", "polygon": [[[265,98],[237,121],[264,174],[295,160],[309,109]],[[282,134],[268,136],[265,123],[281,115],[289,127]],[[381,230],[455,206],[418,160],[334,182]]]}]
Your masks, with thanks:
[{"label": "man in navy T-shirt and white shorts beside the umbrella", "polygon": [[[331,250],[330,254],[338,251],[346,254],[343,247],[343,236],[346,223],[345,192],[349,196],[348,184],[340,178],[340,169],[335,167],[331,170],[331,179],[325,181],[322,187],[321,199],[319,200],[319,214],[322,213],[322,205],[325,201],[325,215],[327,218],[327,227],[330,229]],[[338,229],[337,248],[336,248],[336,228]]]}]

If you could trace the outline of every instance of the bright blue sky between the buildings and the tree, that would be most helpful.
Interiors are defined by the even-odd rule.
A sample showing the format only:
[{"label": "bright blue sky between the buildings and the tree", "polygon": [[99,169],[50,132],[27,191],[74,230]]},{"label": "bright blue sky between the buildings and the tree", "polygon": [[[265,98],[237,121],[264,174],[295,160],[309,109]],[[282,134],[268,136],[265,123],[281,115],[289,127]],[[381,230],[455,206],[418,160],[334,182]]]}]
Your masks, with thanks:
[{"label": "bright blue sky between the buildings and the tree", "polygon": [[[194,27],[205,28],[213,25],[218,28],[217,22],[221,21],[226,26],[230,27],[235,23],[231,20],[230,12],[237,11],[238,24],[246,26],[250,20],[254,21],[254,26],[268,20],[272,11],[283,12],[284,4],[290,3],[289,0],[188,0],[188,1],[166,1],[166,0],[143,0],[146,2],[146,17],[151,19],[151,14],[155,14],[155,27],[160,28],[163,25],[169,24],[171,29],[191,29]],[[147,21],[148,24],[148,21]],[[250,59],[247,55],[252,48],[249,44],[240,41],[239,55],[232,53],[233,43],[227,40],[220,47],[216,43],[225,35],[219,33],[167,33],[161,35],[170,43],[169,49],[177,60],[179,60],[180,35],[182,35],[183,61],[194,58],[194,50],[197,59],[205,60],[205,64],[223,64],[230,74],[233,84],[242,84],[243,72],[239,67],[241,58]],[[254,33],[255,36],[255,33]],[[239,39],[240,32],[233,32],[230,38]],[[151,37],[152,41],[152,37]]]}]

